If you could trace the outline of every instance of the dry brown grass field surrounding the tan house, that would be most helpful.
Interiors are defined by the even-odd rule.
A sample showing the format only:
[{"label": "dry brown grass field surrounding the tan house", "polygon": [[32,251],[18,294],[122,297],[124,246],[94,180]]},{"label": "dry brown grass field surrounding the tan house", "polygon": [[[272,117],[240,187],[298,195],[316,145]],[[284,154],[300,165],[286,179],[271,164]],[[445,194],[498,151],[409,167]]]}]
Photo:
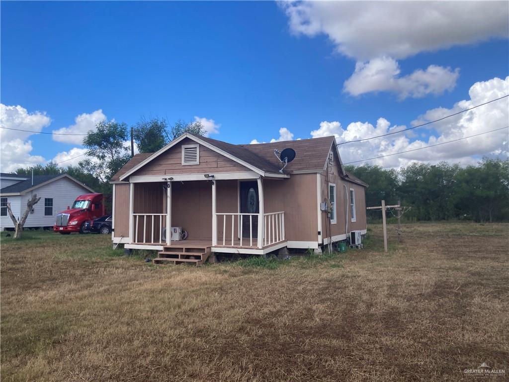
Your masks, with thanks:
[{"label": "dry brown grass field surrounding the tan house", "polygon": [[482,362],[509,378],[509,225],[404,231],[388,254],[372,226],[343,255],[197,268],[2,233],[2,381],[454,381]]}]

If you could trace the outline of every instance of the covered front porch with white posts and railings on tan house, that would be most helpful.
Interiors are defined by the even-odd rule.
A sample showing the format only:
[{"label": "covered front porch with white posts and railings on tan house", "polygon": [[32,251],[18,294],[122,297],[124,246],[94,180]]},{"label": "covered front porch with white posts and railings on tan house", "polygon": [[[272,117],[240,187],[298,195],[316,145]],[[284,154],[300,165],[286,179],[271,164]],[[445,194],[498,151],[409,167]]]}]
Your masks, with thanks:
[{"label": "covered front porch with white posts and railings on tan house", "polygon": [[[168,175],[163,181],[131,182],[130,242],[125,247],[251,254],[285,247],[285,211],[264,208],[264,182],[283,180],[239,175]],[[172,227],[187,231],[187,238],[180,239]]]}]

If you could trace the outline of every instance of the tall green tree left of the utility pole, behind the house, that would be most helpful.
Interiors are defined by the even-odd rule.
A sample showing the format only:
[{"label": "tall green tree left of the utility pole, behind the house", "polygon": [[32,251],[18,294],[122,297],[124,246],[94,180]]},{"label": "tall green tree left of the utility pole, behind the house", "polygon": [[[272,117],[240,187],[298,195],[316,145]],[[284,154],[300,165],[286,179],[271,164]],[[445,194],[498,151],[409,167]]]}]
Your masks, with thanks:
[{"label": "tall green tree left of the utility pole, behind the house", "polygon": [[79,167],[101,182],[108,181],[129,160],[129,149],[125,146],[128,139],[127,125],[118,122],[99,122],[96,131],[89,131],[83,140],[87,156]]}]

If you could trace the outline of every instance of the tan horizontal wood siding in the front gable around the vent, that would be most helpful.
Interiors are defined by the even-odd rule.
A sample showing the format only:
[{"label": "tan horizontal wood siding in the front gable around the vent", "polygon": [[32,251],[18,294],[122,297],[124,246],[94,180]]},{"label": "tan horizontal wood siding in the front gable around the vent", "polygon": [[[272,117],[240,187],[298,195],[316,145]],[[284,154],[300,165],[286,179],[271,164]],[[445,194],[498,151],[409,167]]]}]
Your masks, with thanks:
[{"label": "tan horizontal wood siding in the front gable around the vent", "polygon": [[207,174],[249,171],[236,161],[200,145],[200,164],[182,166],[182,145],[195,144],[186,138],[147,163],[132,175]]}]

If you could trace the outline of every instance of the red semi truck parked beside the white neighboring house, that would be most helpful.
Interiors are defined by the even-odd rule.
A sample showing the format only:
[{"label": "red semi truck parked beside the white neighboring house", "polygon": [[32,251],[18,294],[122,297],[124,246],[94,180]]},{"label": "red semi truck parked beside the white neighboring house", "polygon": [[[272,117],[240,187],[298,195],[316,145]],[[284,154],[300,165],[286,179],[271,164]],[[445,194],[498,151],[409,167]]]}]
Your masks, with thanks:
[{"label": "red semi truck parked beside the white neighboring house", "polygon": [[104,200],[102,194],[83,194],[76,198],[72,207],[56,214],[54,232],[70,234],[84,233],[85,224],[104,215]]}]

